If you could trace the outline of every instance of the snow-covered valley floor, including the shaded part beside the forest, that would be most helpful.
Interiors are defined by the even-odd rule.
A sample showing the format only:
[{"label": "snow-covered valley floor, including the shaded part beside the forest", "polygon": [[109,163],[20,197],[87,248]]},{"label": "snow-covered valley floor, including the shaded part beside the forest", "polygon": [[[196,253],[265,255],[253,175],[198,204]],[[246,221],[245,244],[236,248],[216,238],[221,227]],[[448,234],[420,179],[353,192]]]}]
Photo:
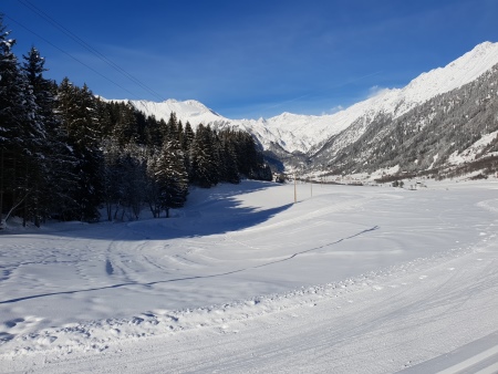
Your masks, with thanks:
[{"label": "snow-covered valley floor, including the shaded part beside the forest", "polygon": [[169,219],[11,222],[0,372],[496,373],[498,183],[424,184],[293,204],[243,181]]}]

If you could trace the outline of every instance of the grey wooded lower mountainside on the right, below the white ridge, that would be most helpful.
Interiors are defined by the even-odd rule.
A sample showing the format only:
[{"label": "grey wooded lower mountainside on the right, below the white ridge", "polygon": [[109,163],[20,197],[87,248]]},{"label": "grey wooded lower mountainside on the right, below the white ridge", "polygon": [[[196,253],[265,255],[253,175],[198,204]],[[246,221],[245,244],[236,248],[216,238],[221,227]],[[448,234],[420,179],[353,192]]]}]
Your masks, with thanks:
[{"label": "grey wooded lower mountainside on the right, below the white ridge", "polygon": [[[353,142],[351,137],[356,137]],[[353,135],[350,135],[353,134]],[[405,114],[378,113],[331,137],[309,162],[331,174],[374,173],[449,177],[497,170],[498,65],[460,89]]]}]

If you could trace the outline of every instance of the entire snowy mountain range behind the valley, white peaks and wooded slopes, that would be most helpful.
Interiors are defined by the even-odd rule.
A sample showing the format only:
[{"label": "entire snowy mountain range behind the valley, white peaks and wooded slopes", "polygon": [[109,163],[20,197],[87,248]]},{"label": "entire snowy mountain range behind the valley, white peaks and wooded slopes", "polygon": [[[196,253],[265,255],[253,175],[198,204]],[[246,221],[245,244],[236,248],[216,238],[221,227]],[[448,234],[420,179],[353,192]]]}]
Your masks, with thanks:
[{"label": "entire snowy mountain range behind the valley, white peaks and wooded slopes", "polygon": [[[498,43],[483,43],[421,74],[403,89],[384,90],[332,115],[283,113],[268,120],[229,120],[199,102],[132,101],[156,118],[175,112],[195,127],[250,132],[276,168],[321,174],[495,173],[498,159]],[[393,176],[395,178],[395,176]]]}]

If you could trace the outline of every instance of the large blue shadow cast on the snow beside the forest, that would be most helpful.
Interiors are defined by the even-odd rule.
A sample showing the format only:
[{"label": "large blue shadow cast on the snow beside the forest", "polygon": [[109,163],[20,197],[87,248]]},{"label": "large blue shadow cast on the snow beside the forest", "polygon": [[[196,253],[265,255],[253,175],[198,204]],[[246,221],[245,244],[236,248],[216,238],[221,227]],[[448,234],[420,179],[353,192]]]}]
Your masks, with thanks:
[{"label": "large blue shadow cast on the snow beside the forest", "polygon": [[[242,194],[279,186],[281,185],[248,180],[240,185],[221,185],[211,189],[194,188],[186,206],[174,210],[172,218],[147,218],[131,222],[63,222],[37,231],[20,230],[9,232],[9,235],[34,232],[69,238],[121,241],[167,240],[220,235],[253,227],[289,209],[292,204],[268,209],[247,207],[242,206],[237,198]],[[148,214],[148,208],[144,207],[143,214]]]}]

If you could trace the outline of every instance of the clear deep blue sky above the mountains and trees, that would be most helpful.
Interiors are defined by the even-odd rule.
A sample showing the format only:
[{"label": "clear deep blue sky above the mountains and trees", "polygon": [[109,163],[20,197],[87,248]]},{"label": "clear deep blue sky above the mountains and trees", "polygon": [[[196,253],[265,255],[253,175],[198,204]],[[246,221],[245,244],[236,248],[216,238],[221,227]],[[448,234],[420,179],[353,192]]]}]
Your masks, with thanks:
[{"label": "clear deep blue sky above the mountains and trees", "polygon": [[37,46],[58,82],[230,118],[333,113],[498,41],[495,0],[2,0],[0,12],[15,54]]}]

